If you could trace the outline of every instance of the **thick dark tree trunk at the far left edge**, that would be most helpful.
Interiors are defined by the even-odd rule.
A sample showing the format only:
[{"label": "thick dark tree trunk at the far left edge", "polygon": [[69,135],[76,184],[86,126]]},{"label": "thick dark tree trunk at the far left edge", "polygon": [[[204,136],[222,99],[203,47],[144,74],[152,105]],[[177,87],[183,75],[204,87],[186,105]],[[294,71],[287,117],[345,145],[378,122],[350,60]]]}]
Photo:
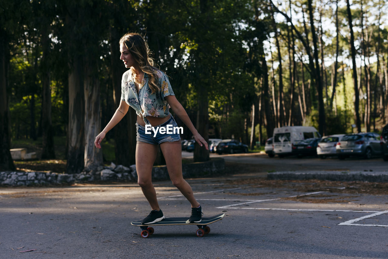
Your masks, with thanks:
[{"label": "thick dark tree trunk at the far left edge", "polygon": [[10,116],[8,107],[9,49],[7,33],[0,28],[0,170],[15,170],[11,152]]}]

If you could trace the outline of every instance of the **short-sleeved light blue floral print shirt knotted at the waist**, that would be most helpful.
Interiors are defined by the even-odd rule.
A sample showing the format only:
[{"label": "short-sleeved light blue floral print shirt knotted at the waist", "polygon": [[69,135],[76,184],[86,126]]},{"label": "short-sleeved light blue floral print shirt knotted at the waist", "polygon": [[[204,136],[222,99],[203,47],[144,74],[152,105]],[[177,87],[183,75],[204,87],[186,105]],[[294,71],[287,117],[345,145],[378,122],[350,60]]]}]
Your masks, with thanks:
[{"label": "short-sleeved light blue floral print shirt knotted at the waist", "polygon": [[170,105],[167,103],[165,97],[175,95],[170,82],[165,73],[156,70],[159,78],[158,92],[152,94],[149,88],[149,76],[144,73],[143,80],[139,87],[139,95],[136,91],[135,82],[131,77],[130,70],[123,74],[121,80],[121,100],[125,101],[129,106],[135,109],[137,115],[142,115],[146,124],[151,124],[147,120],[147,116],[154,116],[164,118],[169,115]]}]

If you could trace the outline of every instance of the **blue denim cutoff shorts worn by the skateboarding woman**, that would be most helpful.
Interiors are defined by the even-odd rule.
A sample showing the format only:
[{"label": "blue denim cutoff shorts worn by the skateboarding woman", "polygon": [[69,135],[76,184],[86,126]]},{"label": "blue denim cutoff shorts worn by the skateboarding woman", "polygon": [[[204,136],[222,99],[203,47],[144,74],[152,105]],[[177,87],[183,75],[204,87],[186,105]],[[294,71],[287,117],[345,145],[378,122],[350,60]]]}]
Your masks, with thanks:
[{"label": "blue denim cutoff shorts worn by the skateboarding woman", "polygon": [[[136,141],[145,142],[148,144],[158,145],[163,142],[174,142],[180,140],[179,131],[175,127],[178,127],[177,122],[175,122],[174,117],[171,115],[170,119],[165,123],[154,126],[154,130],[156,131],[157,127],[167,129],[166,133],[160,133],[159,130],[156,131],[156,134],[152,128],[150,129],[150,125],[146,125],[148,127],[147,131],[151,134],[145,134],[146,128],[139,123],[136,123]],[[168,130],[170,129],[170,130]],[[175,133],[174,130],[175,129]],[[156,136],[155,136],[156,135]]]}]

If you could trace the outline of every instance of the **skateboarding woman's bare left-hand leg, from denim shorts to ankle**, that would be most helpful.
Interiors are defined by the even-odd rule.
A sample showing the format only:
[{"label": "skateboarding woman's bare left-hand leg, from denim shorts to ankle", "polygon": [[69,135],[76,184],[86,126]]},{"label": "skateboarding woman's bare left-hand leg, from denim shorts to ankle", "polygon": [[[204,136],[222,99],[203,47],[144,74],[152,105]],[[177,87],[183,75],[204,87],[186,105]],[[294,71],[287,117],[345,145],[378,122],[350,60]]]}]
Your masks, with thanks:
[{"label": "skateboarding woman's bare left-hand leg, from denim shorts to ankle", "polygon": [[159,203],[156,199],[156,191],[152,184],[152,167],[158,154],[158,145],[152,145],[137,141],[136,143],[136,172],[137,183],[151,205],[152,210],[159,210]]}]

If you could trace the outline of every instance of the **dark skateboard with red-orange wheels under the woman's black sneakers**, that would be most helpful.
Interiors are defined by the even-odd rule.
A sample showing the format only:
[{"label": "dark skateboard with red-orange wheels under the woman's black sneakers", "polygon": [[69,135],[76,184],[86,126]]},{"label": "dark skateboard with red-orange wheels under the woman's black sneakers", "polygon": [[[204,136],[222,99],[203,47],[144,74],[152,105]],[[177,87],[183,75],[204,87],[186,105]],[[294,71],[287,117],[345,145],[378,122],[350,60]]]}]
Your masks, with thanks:
[{"label": "dark skateboard with red-orange wheels under the woman's black sneakers", "polygon": [[138,226],[142,229],[141,236],[143,238],[147,238],[154,233],[154,228],[152,226],[171,226],[171,225],[197,225],[198,229],[196,231],[196,235],[199,237],[204,236],[210,232],[210,228],[207,226],[208,224],[214,223],[216,221],[221,220],[225,214],[218,214],[213,217],[203,217],[202,221],[199,223],[186,223],[187,217],[166,217],[162,221],[142,225],[141,221],[131,222],[132,226]]}]

